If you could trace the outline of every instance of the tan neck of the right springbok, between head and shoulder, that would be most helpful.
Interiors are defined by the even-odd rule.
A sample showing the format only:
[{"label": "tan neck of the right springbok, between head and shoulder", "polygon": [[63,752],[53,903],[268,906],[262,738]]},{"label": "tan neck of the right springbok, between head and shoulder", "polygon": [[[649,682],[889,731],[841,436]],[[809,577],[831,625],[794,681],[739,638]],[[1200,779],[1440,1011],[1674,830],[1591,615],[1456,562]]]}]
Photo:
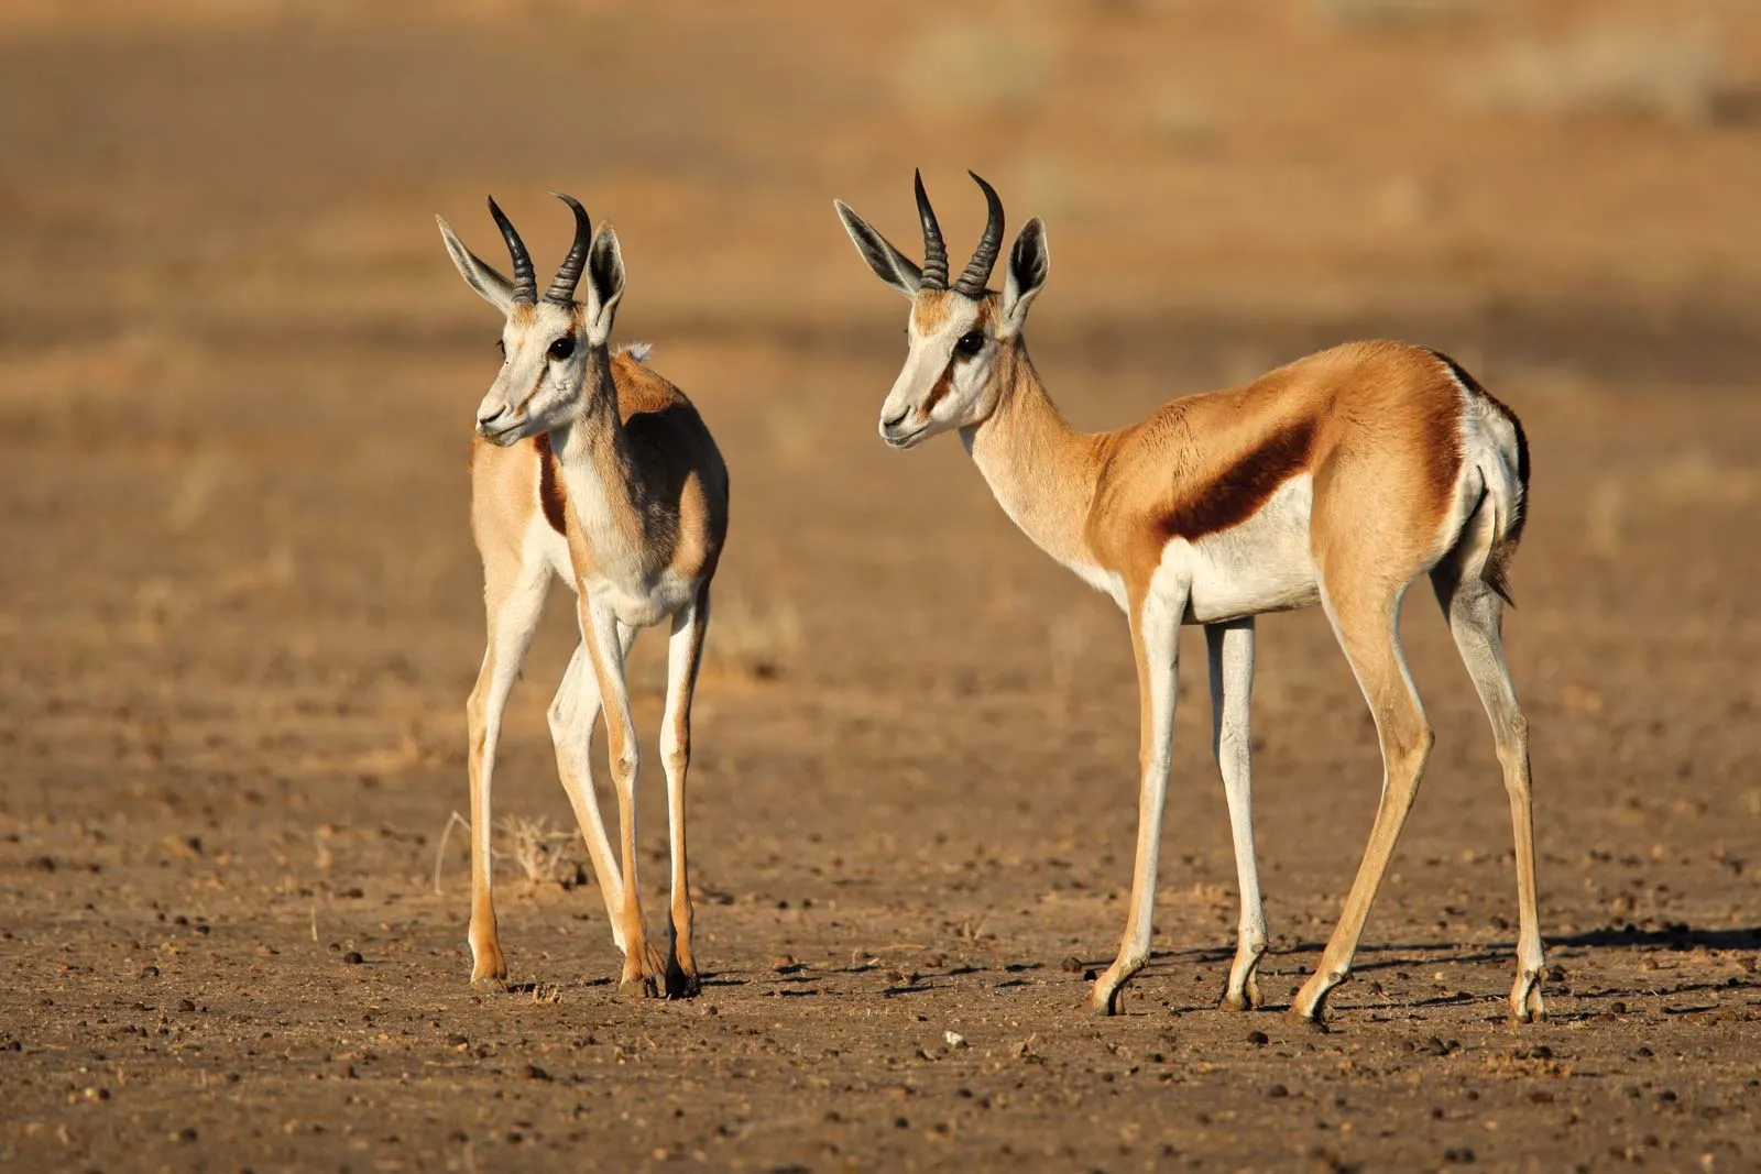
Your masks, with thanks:
[{"label": "tan neck of the right springbok, between head and shoulder", "polygon": [[1023,341],[998,361],[997,410],[962,428],[960,440],[1021,533],[1065,565],[1092,563],[1083,528],[1097,482],[1095,438],[1058,415]]}]

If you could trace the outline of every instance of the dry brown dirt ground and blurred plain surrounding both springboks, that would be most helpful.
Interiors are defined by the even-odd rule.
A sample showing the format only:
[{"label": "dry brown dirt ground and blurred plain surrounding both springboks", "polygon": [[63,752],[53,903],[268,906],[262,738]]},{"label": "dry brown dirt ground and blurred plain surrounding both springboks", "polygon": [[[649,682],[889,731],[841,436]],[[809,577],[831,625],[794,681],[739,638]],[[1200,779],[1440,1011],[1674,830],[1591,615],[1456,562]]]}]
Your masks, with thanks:
[{"label": "dry brown dirt ground and blurred plain surrounding both springboks", "polygon": [[[19,4],[0,1163],[1761,1167],[1757,40],[1738,4]],[[1507,806],[1418,591],[1437,752],[1331,1030],[1278,1010],[1379,760],[1314,613],[1261,628],[1273,1007],[1213,1009],[1234,871],[1189,637],[1157,954],[1124,1016],[1087,1014],[1129,882],[1131,658],[953,440],[873,437],[902,306],[829,197],[914,248],[919,162],[951,239],[979,215],[965,165],[1048,216],[1030,336],[1079,426],[1365,333],[1455,352],[1522,414],[1507,642],[1546,1023],[1504,1017]],[[544,190],[616,218],[620,333],[733,470],[690,1002],[618,998],[585,854],[546,836],[555,604],[497,789],[514,989],[467,984],[444,833],[493,322],[428,216],[493,255],[490,187],[544,257],[567,224]]]}]

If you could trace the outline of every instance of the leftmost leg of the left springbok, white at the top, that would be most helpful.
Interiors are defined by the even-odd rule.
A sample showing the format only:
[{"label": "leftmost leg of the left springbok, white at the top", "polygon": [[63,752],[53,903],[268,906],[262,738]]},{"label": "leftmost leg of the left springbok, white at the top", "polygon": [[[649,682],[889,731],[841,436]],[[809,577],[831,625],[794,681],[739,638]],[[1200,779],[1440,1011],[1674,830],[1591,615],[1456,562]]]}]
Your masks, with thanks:
[{"label": "leftmost leg of the left springbok, white at the top", "polygon": [[470,980],[498,987],[507,982],[507,963],[495,931],[490,861],[490,783],[495,774],[495,746],[502,736],[502,711],[519,678],[519,665],[532,648],[539,616],[544,614],[544,588],[549,569],[528,570],[518,563],[500,567],[484,561],[484,604],[490,616],[490,641],[483,653],[477,685],[465,702],[470,730]]}]

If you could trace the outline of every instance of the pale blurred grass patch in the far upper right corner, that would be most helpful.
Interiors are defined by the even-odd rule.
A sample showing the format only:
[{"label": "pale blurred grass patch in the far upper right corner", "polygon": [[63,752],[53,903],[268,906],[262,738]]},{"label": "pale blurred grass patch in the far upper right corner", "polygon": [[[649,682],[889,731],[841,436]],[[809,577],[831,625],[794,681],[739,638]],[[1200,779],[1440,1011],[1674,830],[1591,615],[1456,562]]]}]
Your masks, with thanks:
[{"label": "pale blurred grass patch in the far upper right corner", "polygon": [[1706,25],[1603,26],[1564,40],[1523,40],[1463,76],[1460,88],[1488,109],[1680,127],[1713,125],[1740,97]]}]

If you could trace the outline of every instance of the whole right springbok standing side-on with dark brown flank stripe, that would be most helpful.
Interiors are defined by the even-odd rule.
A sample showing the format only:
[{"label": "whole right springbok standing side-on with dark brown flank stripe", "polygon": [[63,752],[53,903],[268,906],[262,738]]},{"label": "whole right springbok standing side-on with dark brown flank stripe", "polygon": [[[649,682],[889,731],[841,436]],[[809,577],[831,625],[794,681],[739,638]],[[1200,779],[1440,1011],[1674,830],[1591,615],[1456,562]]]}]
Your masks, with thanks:
[{"label": "whole right springbok standing side-on with dark brown flank stripe", "polygon": [[1222,1007],[1261,1003],[1266,949],[1254,862],[1249,693],[1254,616],[1319,602],[1370,702],[1382,745],[1382,799],[1321,966],[1291,1010],[1323,1014],[1345,980],[1389,854],[1432,748],[1396,618],[1430,574],[1456,648],[1492,718],[1516,829],[1522,917],[1511,1012],[1541,1014],[1529,732],[1500,642],[1506,574],[1523,530],[1529,449],[1522,424],[1433,350],[1359,341],[1270,371],[1245,387],[1185,396],[1118,431],[1081,435],[1058,415],[1021,329],[1046,283],[1046,227],[1028,220],[1002,292],[986,289],[1002,245],[997,192],[965,273],[917,176],[923,268],[835,201],[882,282],[910,299],[909,354],[880,407],[880,438],[910,449],[958,429],[1004,512],[1043,551],[1106,591],[1131,621],[1141,699],[1138,852],[1118,958],[1094,986],[1099,1014],[1150,958],[1162,803],[1175,727],[1182,623],[1205,625],[1212,746],[1224,780],[1242,921]]}]

